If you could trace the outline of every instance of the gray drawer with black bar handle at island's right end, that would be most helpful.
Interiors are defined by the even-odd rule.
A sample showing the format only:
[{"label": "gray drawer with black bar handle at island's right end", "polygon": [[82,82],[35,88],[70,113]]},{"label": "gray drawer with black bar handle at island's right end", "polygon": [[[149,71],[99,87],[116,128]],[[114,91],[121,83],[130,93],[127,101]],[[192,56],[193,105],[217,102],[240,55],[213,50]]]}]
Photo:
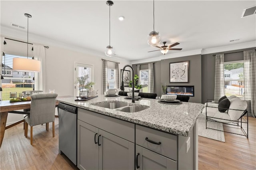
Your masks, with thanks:
[{"label": "gray drawer with black bar handle at island's right end", "polygon": [[[177,160],[177,136],[136,125],[136,144]],[[155,142],[156,144],[152,143]]]}]

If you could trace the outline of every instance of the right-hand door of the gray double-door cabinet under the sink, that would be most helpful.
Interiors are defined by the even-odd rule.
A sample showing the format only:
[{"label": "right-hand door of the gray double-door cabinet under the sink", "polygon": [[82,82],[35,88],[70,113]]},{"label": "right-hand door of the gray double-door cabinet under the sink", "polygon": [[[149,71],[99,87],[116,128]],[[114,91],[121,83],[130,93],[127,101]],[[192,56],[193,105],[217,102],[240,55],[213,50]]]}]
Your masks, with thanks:
[{"label": "right-hand door of the gray double-door cabinet under the sink", "polygon": [[99,169],[134,170],[134,143],[99,130]]}]

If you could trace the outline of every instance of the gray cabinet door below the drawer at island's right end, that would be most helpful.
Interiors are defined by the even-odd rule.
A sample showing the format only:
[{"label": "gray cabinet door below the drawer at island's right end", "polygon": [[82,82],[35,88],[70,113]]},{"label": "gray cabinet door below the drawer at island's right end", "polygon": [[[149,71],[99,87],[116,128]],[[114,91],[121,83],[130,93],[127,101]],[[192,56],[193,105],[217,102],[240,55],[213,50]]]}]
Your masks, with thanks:
[{"label": "gray cabinet door below the drawer at island's right end", "polygon": [[136,170],[177,170],[176,161],[139,145],[136,145],[135,159]]}]

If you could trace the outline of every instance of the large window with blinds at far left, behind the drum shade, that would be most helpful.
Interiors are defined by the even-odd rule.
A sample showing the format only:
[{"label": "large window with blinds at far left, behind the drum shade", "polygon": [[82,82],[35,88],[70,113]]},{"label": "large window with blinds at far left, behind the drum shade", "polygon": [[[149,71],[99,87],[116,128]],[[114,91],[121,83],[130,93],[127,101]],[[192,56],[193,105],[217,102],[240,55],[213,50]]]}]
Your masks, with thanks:
[{"label": "large window with blinds at far left, behind the drum shade", "polygon": [[[27,58],[25,56],[4,54],[2,56],[2,100],[10,100],[10,92],[17,92],[17,97],[22,91],[34,89],[34,72],[12,70],[13,58]],[[32,59],[32,57],[28,57]]]}]

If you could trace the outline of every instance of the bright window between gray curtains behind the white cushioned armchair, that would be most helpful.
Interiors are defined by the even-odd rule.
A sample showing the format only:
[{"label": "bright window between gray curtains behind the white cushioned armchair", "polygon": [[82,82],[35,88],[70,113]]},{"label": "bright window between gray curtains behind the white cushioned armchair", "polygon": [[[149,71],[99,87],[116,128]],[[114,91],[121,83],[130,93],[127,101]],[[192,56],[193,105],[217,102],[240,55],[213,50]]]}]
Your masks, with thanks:
[{"label": "bright window between gray curtains behind the white cushioned armchair", "polygon": [[224,63],[225,95],[244,98],[244,61]]}]

